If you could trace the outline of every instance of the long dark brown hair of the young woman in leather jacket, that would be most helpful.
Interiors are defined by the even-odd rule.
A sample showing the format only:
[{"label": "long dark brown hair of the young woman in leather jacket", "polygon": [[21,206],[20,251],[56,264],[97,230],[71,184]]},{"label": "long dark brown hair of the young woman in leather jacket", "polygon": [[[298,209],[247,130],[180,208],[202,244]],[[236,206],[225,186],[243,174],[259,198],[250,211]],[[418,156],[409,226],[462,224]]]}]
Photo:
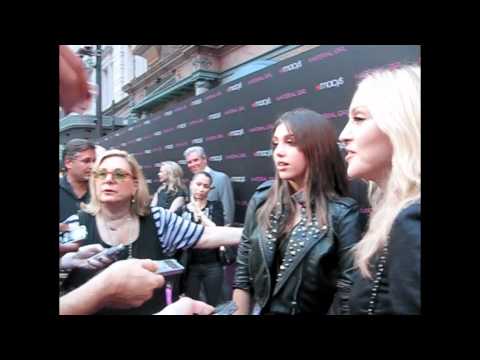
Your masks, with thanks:
[{"label": "long dark brown hair of the young woman in leather jacket", "polygon": [[[272,134],[281,124],[292,132],[296,146],[307,160],[305,200],[307,204],[314,203],[313,209],[307,206],[307,217],[311,220],[314,211],[318,222],[326,224],[328,199],[348,195],[346,167],[337,146],[335,128],[324,116],[304,108],[281,115],[274,124]],[[262,227],[266,229],[270,225],[270,214],[287,210],[287,218],[280,225],[279,235],[290,231],[295,218],[295,203],[290,195],[288,182],[280,179],[275,172],[267,201],[258,210]],[[280,204],[280,209],[277,204]]]}]

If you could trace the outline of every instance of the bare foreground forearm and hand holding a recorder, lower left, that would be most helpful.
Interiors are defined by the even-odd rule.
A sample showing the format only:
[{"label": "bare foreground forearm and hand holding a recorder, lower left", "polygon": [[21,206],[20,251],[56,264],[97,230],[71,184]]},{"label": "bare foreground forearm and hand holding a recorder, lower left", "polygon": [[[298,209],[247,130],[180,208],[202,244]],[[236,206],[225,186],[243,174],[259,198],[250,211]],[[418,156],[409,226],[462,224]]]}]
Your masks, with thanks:
[{"label": "bare foreground forearm and hand holding a recorder, lower left", "polygon": [[118,261],[62,296],[60,315],[88,315],[104,307],[138,307],[165,283],[163,276],[154,273],[156,269],[148,259]]}]

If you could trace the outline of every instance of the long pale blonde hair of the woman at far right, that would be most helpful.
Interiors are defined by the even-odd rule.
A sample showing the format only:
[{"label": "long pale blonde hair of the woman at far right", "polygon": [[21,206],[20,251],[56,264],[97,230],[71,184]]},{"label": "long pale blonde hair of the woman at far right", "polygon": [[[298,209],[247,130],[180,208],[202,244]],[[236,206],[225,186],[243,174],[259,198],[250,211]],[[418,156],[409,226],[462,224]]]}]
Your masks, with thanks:
[{"label": "long pale blonde hair of the woman at far right", "polygon": [[[368,96],[372,119],[392,144],[391,169],[385,187],[369,182],[372,213],[368,229],[353,248],[355,264],[371,278],[370,260],[388,242],[398,213],[420,199],[420,67],[404,65],[379,70],[358,85],[357,95]],[[355,102],[355,96],[350,105]]]}]

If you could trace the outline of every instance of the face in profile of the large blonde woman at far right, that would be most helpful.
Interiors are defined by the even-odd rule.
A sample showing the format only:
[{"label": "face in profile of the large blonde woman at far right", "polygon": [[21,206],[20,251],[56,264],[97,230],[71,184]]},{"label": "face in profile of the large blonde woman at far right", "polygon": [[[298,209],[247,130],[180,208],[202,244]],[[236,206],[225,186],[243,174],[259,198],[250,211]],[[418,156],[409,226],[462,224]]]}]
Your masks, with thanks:
[{"label": "face in profile of the large blonde woman at far right", "polygon": [[359,95],[352,101],[349,121],[339,137],[346,145],[347,173],[382,186],[390,172],[393,147],[372,118],[367,101]]}]

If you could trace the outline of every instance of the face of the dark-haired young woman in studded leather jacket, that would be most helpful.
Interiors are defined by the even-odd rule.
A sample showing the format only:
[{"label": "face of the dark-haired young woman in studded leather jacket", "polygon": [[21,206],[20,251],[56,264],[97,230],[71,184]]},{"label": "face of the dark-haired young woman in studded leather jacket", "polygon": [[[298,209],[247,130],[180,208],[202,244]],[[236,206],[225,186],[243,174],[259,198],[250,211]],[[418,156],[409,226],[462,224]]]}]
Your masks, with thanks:
[{"label": "face of the dark-haired young woman in studded leather jacket", "polygon": [[307,159],[297,147],[297,139],[284,124],[275,129],[272,138],[273,161],[280,179],[288,180],[295,190],[304,186]]}]

